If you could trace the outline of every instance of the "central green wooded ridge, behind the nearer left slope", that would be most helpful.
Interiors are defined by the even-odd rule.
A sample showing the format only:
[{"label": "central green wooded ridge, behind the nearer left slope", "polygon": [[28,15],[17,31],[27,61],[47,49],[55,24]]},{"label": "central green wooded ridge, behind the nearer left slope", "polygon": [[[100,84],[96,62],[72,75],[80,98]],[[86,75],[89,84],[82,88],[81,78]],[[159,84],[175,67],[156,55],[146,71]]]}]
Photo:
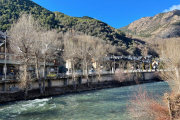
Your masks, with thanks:
[{"label": "central green wooded ridge, behind the nearer left slope", "polygon": [[58,22],[59,31],[75,30],[84,34],[100,37],[112,44],[127,43],[125,33],[117,30],[108,24],[88,16],[70,17],[60,12],[54,12],[55,20]]}]

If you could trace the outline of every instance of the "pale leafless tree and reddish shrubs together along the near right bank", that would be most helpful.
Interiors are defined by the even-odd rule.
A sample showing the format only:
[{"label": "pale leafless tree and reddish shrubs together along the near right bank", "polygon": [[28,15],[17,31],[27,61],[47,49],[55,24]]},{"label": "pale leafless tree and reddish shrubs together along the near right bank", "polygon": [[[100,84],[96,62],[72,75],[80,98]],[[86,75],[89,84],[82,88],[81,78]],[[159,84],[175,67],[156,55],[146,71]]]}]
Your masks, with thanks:
[{"label": "pale leafless tree and reddish shrubs together along the near right bank", "polygon": [[165,71],[160,77],[169,81],[172,93],[164,94],[161,104],[147,92],[140,90],[131,101],[130,115],[139,119],[178,120],[180,119],[180,41],[179,38],[163,40],[159,43],[159,53]]}]

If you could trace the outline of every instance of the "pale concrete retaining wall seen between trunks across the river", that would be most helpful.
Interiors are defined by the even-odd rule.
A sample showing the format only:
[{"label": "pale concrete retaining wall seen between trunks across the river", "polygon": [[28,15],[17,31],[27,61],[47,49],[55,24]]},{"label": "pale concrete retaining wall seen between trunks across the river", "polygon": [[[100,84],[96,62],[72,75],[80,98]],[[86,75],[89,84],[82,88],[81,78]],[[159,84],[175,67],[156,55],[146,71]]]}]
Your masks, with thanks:
[{"label": "pale concrete retaining wall seen between trunks across the river", "polygon": [[[132,74],[132,73],[127,73]],[[142,78],[141,80],[153,80],[155,79],[154,72],[141,72]],[[75,78],[76,84],[83,84],[87,82],[87,79],[84,76],[79,76]],[[106,74],[101,76],[101,81],[112,81],[114,80],[113,74]],[[92,81],[93,83],[98,82],[98,76],[89,76],[89,81]],[[133,81],[132,78],[130,78],[128,81]],[[42,82],[42,81],[41,81]],[[43,85],[43,83],[41,83]],[[45,87],[55,87],[55,86],[64,86],[64,85],[73,85],[72,78],[58,78],[58,79],[46,79],[45,80]],[[39,83],[38,81],[33,81],[31,85],[29,86],[29,89],[38,89]],[[0,92],[6,92],[6,91],[16,91],[18,89],[21,89],[19,86],[19,83],[17,81],[0,81]]]}]

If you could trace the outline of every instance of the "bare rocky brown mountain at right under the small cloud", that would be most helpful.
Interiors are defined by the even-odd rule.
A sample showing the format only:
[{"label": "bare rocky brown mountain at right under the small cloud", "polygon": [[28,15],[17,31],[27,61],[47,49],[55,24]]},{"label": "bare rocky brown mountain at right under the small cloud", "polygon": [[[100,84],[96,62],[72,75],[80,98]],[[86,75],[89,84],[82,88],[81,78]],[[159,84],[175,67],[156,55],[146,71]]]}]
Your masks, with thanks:
[{"label": "bare rocky brown mountain at right under the small cloud", "polygon": [[180,37],[180,10],[143,17],[119,30],[140,37]]}]

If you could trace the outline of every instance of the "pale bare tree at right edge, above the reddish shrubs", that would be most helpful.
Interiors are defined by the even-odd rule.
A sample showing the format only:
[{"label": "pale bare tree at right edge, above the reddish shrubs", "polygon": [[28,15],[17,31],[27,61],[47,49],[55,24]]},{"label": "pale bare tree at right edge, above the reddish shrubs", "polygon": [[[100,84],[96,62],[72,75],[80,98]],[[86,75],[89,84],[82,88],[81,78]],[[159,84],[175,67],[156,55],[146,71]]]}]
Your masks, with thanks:
[{"label": "pale bare tree at right edge, above the reddish shrubs", "polygon": [[180,92],[180,41],[178,39],[167,40],[161,46],[163,68],[168,72],[162,72],[165,80],[172,81],[172,89],[176,93]]}]

